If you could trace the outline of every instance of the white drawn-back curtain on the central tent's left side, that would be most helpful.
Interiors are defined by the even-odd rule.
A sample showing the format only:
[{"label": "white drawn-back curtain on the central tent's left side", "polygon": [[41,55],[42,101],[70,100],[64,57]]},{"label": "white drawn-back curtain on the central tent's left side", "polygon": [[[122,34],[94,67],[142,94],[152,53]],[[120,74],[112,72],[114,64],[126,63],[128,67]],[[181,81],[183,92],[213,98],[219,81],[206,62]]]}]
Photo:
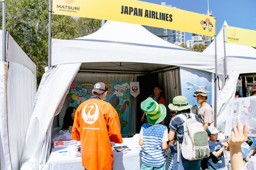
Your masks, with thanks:
[{"label": "white drawn-back curtain on the central tent's left side", "polygon": [[51,127],[54,115],[64,102],[67,89],[81,63],[61,64],[48,69],[40,82],[35,97],[20,163],[21,169],[42,169],[46,163],[51,143]]}]

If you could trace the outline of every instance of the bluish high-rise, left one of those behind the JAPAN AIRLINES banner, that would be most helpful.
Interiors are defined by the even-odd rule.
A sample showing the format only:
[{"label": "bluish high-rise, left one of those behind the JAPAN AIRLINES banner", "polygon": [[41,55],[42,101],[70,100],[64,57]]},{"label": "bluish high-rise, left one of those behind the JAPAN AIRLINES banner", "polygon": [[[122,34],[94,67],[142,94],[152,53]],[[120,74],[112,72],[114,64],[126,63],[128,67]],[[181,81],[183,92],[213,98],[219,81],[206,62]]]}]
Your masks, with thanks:
[{"label": "bluish high-rise, left one of those behind the JAPAN AIRLINES banner", "polygon": [[[165,2],[162,2],[161,5],[172,7],[172,5],[166,5]],[[172,7],[176,8],[176,7]],[[165,41],[171,42],[175,45],[184,44],[185,45],[185,32],[176,31],[167,28],[158,28],[153,26],[144,26],[149,32],[155,34],[156,36],[164,39]]]}]

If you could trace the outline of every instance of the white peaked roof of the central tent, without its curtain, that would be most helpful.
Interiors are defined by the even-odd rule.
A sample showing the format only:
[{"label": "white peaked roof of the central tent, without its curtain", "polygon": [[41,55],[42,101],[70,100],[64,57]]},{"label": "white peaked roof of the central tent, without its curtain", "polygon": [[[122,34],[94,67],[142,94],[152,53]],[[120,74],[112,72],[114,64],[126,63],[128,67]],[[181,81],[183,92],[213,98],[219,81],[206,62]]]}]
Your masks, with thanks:
[{"label": "white peaked roof of the central tent, without its curtain", "polygon": [[[214,53],[213,53],[214,54]],[[97,32],[73,40],[52,39],[52,65],[91,62],[136,62],[214,72],[213,54],[181,48],[143,26],[108,21]]]}]

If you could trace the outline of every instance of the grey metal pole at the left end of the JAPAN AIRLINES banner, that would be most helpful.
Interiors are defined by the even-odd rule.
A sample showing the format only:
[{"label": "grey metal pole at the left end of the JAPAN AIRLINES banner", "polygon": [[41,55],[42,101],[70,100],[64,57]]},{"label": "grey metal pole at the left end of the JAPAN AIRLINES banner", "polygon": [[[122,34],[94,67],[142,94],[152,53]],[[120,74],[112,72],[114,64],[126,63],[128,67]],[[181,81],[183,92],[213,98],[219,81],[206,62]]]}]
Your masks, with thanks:
[{"label": "grey metal pole at the left end of the JAPAN AIRLINES banner", "polygon": [[48,21],[48,69],[52,65],[52,0],[49,0],[49,21]]}]

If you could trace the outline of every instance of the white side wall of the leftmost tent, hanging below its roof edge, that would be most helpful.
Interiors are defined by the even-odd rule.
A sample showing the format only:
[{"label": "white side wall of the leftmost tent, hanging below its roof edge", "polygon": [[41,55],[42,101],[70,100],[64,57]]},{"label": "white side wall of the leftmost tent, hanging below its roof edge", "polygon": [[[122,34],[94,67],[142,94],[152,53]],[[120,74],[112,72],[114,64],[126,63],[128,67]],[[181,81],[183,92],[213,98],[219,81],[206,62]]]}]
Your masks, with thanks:
[{"label": "white side wall of the leftmost tent, hanging below its roof edge", "polygon": [[7,113],[12,169],[20,168],[20,155],[35,95],[36,76],[33,72],[23,64],[9,62]]}]

